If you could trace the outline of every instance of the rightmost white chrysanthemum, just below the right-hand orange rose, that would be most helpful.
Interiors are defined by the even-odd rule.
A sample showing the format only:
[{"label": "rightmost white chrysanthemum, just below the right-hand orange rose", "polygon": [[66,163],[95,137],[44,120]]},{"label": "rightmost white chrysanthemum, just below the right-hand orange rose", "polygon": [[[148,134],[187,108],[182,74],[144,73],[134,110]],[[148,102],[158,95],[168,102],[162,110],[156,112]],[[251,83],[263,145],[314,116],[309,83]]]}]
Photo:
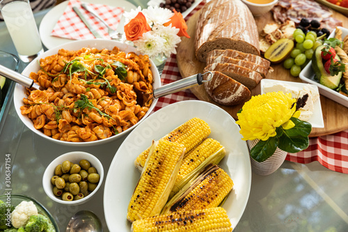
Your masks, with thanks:
[{"label": "rightmost white chrysanthemum, just below the right-hand orange rose", "polygon": [[181,42],[180,36],[177,36],[177,33],[179,33],[180,29],[172,27],[172,24],[170,24],[169,26],[159,26],[154,31],[155,34],[166,40],[166,42],[164,42],[162,52],[167,57],[172,53],[176,54],[175,47],[177,47],[177,44]]}]

